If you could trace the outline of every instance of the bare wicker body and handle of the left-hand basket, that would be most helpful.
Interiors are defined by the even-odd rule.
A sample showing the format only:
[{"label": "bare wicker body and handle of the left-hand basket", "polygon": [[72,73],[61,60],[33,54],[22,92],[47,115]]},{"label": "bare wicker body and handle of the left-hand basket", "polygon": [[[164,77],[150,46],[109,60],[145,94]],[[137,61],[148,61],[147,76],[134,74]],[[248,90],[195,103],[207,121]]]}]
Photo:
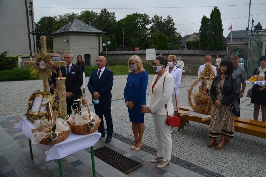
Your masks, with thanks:
[{"label": "bare wicker body and handle of the left-hand basket", "polygon": [[[53,115],[53,112],[52,112],[52,115],[49,115],[49,120],[51,120],[51,119],[52,119],[52,125],[54,125],[55,124],[55,117]],[[64,141],[68,137],[70,129],[71,129],[71,126],[68,124],[68,127],[69,128],[68,128],[67,131],[62,131],[62,132],[60,132],[58,134],[57,138],[53,141],[53,144],[60,143],[60,142]],[[44,128],[44,129],[48,129],[48,128]],[[32,129],[32,133],[34,133],[34,132],[36,132],[36,130]],[[50,136],[48,136],[47,138],[43,138],[39,143],[40,144],[50,144],[49,140],[50,140]]]}]

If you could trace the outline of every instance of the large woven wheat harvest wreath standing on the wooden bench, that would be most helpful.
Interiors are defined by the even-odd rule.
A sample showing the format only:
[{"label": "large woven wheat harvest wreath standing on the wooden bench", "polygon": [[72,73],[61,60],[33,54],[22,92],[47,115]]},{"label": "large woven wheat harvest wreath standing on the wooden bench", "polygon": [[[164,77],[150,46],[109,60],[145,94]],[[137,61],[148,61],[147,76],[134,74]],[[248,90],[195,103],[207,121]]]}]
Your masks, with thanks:
[{"label": "large woven wheat harvest wreath standing on the wooden bench", "polygon": [[[195,80],[191,85],[188,91],[188,101],[195,112],[207,115],[211,114],[213,102],[211,100],[209,92],[207,92],[206,85],[207,82],[209,82],[208,89],[210,89],[214,76],[215,74],[212,70],[211,64],[206,63],[204,70],[199,75],[199,78]],[[193,88],[198,84],[199,81],[201,81],[199,92],[192,94]],[[191,97],[193,97],[193,102],[191,100]]]}]

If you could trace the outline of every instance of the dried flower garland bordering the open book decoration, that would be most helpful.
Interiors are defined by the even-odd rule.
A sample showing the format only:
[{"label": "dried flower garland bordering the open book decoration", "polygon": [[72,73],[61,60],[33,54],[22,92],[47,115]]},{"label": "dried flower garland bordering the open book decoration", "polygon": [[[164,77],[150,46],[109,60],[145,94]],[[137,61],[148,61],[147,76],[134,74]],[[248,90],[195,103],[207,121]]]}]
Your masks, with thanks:
[{"label": "dried flower garland bordering the open book decoration", "polygon": [[[32,105],[33,105],[33,102],[34,102],[35,96],[36,96],[37,94],[41,94],[41,95],[51,95],[51,93],[49,93],[49,92],[39,91],[39,90],[32,92],[32,94],[30,95],[30,97],[29,97],[29,99],[28,99],[28,102],[27,102],[27,104],[28,104],[27,112],[24,114],[24,116],[26,116],[27,119],[29,119],[31,122],[34,122],[34,120],[38,120],[38,119],[40,119],[42,116],[45,116],[45,113],[44,113],[44,115],[42,115],[42,116],[35,116],[35,115],[30,114],[30,112],[31,112],[31,110],[32,110]],[[57,111],[55,110],[55,105],[54,105],[54,104],[52,104],[52,108],[53,108],[53,110],[54,110],[54,113],[56,113]]]}]

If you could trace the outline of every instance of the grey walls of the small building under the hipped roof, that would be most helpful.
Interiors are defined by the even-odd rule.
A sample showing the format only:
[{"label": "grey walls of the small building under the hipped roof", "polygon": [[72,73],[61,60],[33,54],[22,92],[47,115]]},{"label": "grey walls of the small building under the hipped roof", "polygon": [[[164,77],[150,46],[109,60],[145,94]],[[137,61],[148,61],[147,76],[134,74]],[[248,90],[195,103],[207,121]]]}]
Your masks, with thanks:
[{"label": "grey walls of the small building under the hipped roof", "polygon": [[[68,41],[64,41],[68,39]],[[100,40],[100,44],[99,44]],[[100,49],[99,49],[100,47]],[[99,50],[102,51],[102,36],[98,34],[61,34],[53,36],[53,50],[64,53],[69,50],[73,53],[73,63],[77,61],[77,56],[81,55],[85,60],[85,55],[89,54],[90,58],[85,61],[90,66],[96,65],[96,58],[99,56]],[[63,57],[63,56],[62,56]]]}]

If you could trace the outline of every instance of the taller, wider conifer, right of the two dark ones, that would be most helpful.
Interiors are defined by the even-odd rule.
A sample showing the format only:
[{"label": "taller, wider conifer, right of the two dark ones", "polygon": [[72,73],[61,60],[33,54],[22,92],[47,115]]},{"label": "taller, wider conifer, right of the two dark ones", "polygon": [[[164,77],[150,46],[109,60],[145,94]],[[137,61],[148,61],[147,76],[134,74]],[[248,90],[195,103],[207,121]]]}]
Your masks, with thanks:
[{"label": "taller, wider conifer, right of the two dark ones", "polygon": [[214,7],[210,14],[210,23],[208,25],[209,35],[208,43],[209,50],[224,50],[223,40],[223,24],[221,13],[218,7]]}]

